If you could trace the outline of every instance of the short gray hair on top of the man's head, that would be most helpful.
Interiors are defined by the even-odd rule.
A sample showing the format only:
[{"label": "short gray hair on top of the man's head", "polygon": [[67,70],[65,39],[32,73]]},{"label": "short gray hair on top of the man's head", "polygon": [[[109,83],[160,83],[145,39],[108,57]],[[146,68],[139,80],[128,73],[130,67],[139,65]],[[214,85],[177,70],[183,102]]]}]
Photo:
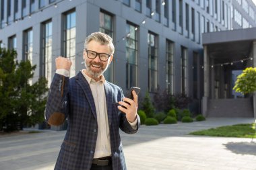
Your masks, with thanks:
[{"label": "short gray hair on top of the man's head", "polygon": [[86,49],[87,44],[91,42],[92,40],[96,42],[100,42],[102,45],[108,45],[110,48],[111,54],[114,54],[115,52],[115,46],[113,44],[113,39],[108,36],[107,34],[104,34],[102,32],[93,32],[90,34],[87,38],[86,41],[84,42],[84,48]]}]

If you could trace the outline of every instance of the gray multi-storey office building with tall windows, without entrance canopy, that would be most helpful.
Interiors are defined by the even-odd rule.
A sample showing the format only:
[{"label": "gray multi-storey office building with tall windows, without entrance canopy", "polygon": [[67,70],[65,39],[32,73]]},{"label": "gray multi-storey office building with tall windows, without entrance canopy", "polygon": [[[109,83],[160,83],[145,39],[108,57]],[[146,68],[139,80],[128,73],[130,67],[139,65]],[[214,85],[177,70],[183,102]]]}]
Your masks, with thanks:
[{"label": "gray multi-storey office building with tall windows, without entrance canopy", "polygon": [[202,34],[256,26],[251,0],[1,0],[0,46],[37,65],[34,79],[49,85],[55,58],[73,62],[70,76],[84,69],[84,40],[105,32],[115,42],[105,73],[124,90],[141,87],[141,97],[158,87],[193,98],[201,112]]}]

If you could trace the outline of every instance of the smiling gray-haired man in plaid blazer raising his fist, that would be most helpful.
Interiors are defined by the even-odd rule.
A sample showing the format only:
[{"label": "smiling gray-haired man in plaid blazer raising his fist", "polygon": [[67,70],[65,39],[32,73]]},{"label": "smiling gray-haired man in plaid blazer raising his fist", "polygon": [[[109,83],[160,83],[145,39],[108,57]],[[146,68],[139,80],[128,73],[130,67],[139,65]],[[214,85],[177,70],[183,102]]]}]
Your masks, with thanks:
[{"label": "smiling gray-haired man in plaid blazer raising his fist", "polygon": [[71,61],[55,60],[45,117],[54,126],[66,118],[68,122],[55,169],[126,169],[119,128],[128,134],[137,132],[137,95],[133,91],[133,100],[124,97],[122,89],[102,75],[115,51],[110,36],[92,33],[84,47],[86,69],[71,79],[67,77]]}]

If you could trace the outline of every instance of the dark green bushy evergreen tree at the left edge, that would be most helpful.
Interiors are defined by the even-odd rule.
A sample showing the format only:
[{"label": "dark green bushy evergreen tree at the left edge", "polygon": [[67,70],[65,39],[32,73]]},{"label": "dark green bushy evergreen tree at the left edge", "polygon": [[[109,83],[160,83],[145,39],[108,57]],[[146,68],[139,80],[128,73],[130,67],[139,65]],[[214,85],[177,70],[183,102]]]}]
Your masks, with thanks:
[{"label": "dark green bushy evergreen tree at the left edge", "polygon": [[47,81],[40,77],[34,84],[36,65],[18,62],[14,50],[0,48],[0,130],[19,130],[44,121]]}]

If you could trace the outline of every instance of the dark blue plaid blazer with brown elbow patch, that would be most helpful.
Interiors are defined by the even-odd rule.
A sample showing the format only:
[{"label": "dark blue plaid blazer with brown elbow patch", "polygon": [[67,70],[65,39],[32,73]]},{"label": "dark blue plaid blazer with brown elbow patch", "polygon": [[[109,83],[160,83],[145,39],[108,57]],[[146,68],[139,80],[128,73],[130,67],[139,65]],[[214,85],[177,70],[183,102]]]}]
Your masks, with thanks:
[{"label": "dark blue plaid blazer with brown elbow patch", "polygon": [[[119,128],[128,134],[131,128],[125,114],[117,108],[123,92],[120,87],[104,83],[113,170],[127,169]],[[94,158],[98,124],[90,85],[81,72],[69,79],[55,73],[49,90],[45,118],[49,124],[59,126],[67,119],[68,127],[55,165],[58,170],[89,170]],[[138,118],[137,128],[140,120]]]}]

